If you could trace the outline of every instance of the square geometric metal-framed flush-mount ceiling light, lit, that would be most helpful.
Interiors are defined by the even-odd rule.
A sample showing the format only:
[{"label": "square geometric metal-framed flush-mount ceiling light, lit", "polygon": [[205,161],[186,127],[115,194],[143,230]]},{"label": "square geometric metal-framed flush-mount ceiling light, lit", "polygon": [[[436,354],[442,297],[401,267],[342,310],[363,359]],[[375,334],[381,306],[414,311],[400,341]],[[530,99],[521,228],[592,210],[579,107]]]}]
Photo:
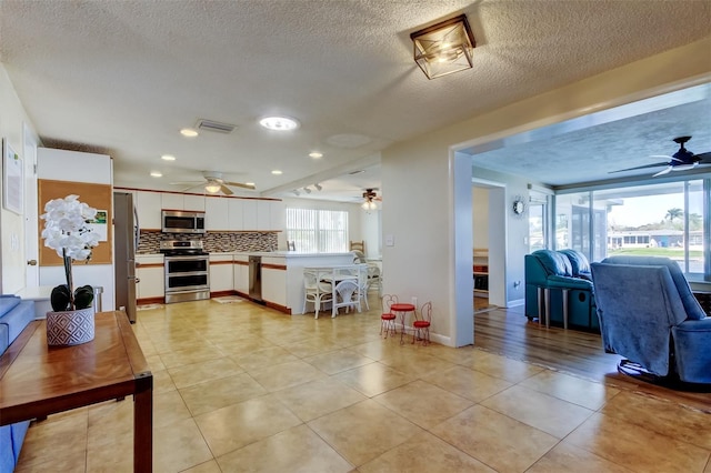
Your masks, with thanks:
[{"label": "square geometric metal-framed flush-mount ceiling light, lit", "polygon": [[410,39],[414,43],[414,62],[428,79],[473,68],[477,41],[465,14],[414,31]]}]

